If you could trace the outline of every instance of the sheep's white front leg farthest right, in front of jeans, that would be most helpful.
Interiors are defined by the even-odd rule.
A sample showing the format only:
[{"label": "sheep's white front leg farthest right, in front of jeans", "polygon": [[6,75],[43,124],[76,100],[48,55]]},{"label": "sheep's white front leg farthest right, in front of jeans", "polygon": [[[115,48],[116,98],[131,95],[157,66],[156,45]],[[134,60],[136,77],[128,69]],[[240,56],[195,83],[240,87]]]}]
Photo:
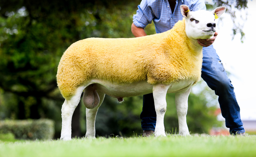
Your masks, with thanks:
[{"label": "sheep's white front leg farthest right, in front of jeans", "polygon": [[187,109],[188,109],[188,98],[191,87],[184,93],[175,93],[175,104],[179,122],[179,135],[188,136],[189,128],[187,127]]}]

